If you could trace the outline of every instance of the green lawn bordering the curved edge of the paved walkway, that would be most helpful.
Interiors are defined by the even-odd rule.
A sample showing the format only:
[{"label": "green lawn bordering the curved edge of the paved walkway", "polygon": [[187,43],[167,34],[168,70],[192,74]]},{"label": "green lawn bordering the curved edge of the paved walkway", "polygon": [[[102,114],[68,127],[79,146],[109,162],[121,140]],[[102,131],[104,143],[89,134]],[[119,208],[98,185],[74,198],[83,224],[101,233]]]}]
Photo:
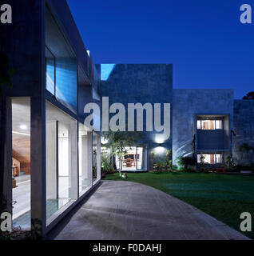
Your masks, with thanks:
[{"label": "green lawn bordering the curved edge of the paved walkway", "polygon": [[[119,180],[118,174],[105,179]],[[125,180],[122,179],[121,180]],[[252,214],[254,238],[254,176],[227,174],[141,173],[128,174],[129,182],[140,182],[171,194],[240,231],[240,214]]]}]

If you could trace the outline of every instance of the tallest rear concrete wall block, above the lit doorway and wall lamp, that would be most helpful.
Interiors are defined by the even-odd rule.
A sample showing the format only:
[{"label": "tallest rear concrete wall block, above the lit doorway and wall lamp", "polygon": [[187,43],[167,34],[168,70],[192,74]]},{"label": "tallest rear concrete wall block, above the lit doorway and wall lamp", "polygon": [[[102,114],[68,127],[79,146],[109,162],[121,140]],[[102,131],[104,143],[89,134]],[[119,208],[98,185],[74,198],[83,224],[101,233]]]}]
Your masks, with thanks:
[{"label": "tallest rear concrete wall block, above the lit doorway and wall lamp", "polygon": [[[98,91],[101,97],[109,97],[109,106],[116,102],[122,103],[127,112],[128,103],[172,103],[173,66],[171,64],[117,64],[113,66],[107,77],[102,66],[97,66],[97,70],[101,71],[102,78]],[[109,115],[109,118],[111,116]],[[161,122],[164,122],[163,118]],[[144,129],[145,124],[144,115]],[[135,130],[136,128],[135,124]],[[159,135],[154,129],[153,132],[141,132],[141,134],[141,142],[148,147],[149,152],[156,149],[158,143],[163,143],[165,149],[172,149],[172,133],[167,141],[162,139],[161,142],[158,142]],[[165,155],[165,150],[156,151],[157,158]]]}]

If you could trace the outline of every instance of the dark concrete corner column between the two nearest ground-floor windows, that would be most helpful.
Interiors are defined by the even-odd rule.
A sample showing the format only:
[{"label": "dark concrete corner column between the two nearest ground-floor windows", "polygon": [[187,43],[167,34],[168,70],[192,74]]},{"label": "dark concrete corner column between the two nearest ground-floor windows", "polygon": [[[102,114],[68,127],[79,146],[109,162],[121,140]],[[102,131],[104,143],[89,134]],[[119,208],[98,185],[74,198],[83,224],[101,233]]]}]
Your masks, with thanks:
[{"label": "dark concrete corner column between the two nearest ground-floor windows", "polygon": [[46,101],[31,97],[31,228],[46,234]]}]

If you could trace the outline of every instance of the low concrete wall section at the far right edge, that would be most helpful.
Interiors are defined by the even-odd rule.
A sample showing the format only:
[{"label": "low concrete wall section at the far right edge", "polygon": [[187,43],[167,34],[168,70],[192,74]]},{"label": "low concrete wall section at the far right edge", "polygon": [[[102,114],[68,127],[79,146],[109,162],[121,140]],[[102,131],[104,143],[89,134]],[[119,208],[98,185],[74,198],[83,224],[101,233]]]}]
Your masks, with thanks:
[{"label": "low concrete wall section at the far right edge", "polygon": [[254,100],[235,100],[234,101],[234,125],[236,133],[233,146],[233,157],[236,162],[248,165],[254,163],[254,152],[240,152],[239,147],[243,143],[254,146]]}]

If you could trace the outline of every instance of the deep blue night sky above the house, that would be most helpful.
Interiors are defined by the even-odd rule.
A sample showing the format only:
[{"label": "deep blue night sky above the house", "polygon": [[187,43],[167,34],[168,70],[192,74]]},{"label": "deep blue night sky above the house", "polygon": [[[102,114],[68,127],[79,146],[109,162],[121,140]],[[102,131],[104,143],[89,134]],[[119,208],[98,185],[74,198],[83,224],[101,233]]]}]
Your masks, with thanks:
[{"label": "deep blue night sky above the house", "polygon": [[95,63],[173,63],[174,88],[254,90],[253,0],[67,0]]}]

